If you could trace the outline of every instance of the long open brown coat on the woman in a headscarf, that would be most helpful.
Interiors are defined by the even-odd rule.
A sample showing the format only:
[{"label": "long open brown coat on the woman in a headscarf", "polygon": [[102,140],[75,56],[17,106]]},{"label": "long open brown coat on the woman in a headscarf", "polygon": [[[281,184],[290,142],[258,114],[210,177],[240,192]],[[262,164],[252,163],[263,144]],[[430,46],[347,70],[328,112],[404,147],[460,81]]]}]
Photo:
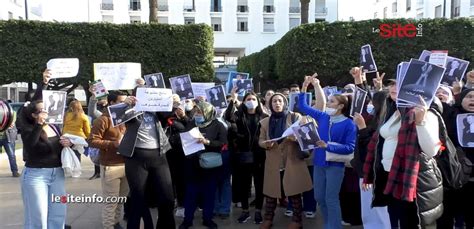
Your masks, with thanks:
[{"label": "long open brown coat on the woman in a headscarf", "polygon": [[[286,128],[291,126],[291,114],[293,113],[290,112],[287,116]],[[301,118],[301,115],[298,113],[294,115],[296,115],[297,119]],[[259,144],[263,148],[266,148],[263,141],[270,139],[268,133],[269,121],[269,117],[260,121]],[[299,145],[294,137],[288,137],[280,144],[275,143],[271,149],[266,150],[267,158],[265,160],[263,194],[273,198],[281,197],[280,168],[283,163],[285,163],[283,190],[286,196],[301,194],[313,188],[306,161],[297,157],[298,150]]]}]

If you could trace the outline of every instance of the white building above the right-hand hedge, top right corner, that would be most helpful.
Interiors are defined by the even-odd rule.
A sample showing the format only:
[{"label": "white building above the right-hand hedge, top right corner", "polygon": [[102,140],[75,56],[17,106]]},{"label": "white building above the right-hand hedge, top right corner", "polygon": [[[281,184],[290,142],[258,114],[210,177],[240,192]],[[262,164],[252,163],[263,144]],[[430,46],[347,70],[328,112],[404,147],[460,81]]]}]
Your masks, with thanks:
[{"label": "white building above the right-hand hedge, top right corner", "polygon": [[373,18],[474,17],[474,0],[375,0]]}]

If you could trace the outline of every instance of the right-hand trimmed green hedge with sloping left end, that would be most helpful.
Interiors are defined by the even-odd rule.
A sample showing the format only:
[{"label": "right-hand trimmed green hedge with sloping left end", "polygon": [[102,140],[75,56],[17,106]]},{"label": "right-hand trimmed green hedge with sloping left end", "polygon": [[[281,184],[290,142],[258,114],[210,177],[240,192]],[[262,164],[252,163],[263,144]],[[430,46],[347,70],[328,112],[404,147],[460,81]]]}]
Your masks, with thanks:
[{"label": "right-hand trimmed green hedge with sloping left end", "polygon": [[[238,71],[252,76],[262,71],[262,89],[301,83],[304,75],[319,74],[323,85],[353,81],[349,69],[359,64],[360,47],[372,46],[375,62],[386,78],[395,78],[401,61],[418,58],[422,50],[448,50],[450,56],[474,62],[473,19],[369,20],[312,23],[289,31],[276,44],[239,60]],[[373,28],[380,24],[421,24],[423,33],[415,38],[382,38]],[[369,78],[373,75],[369,75]],[[272,84],[266,84],[272,82]],[[277,86],[274,86],[277,85]]]}]

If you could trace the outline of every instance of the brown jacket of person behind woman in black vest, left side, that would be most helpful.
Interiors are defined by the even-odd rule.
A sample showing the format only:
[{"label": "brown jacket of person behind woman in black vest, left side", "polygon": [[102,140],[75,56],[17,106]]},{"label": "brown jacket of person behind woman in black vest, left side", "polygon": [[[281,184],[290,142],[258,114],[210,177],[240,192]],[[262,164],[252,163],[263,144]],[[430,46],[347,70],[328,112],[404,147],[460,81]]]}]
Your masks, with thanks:
[{"label": "brown jacket of person behind woman in black vest, left side", "polygon": [[112,126],[112,120],[108,113],[102,114],[94,120],[91,134],[87,142],[89,146],[100,150],[99,161],[101,165],[120,165],[125,163],[124,157],[118,154],[118,147],[114,141],[118,141],[125,133],[125,125]]}]

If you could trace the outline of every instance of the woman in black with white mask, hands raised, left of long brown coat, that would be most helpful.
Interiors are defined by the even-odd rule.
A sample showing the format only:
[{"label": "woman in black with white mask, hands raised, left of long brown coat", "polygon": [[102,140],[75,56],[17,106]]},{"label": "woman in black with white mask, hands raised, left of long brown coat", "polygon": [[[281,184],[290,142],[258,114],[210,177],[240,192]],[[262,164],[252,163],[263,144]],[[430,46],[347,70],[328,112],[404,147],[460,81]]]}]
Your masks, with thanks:
[{"label": "woman in black with white mask, hands raised, left of long brown coat", "polygon": [[265,151],[258,145],[260,136],[260,120],[266,118],[257,94],[248,92],[243,98],[236,112],[232,112],[233,104],[227,108],[226,120],[231,123],[231,130],[236,136],[236,160],[237,166],[234,174],[238,174],[239,181],[234,182],[240,189],[242,203],[242,214],[238,218],[239,223],[245,223],[250,219],[249,212],[249,190],[251,189],[252,177],[255,186],[255,217],[256,224],[262,223],[261,210],[263,207],[263,173],[265,165]]}]

